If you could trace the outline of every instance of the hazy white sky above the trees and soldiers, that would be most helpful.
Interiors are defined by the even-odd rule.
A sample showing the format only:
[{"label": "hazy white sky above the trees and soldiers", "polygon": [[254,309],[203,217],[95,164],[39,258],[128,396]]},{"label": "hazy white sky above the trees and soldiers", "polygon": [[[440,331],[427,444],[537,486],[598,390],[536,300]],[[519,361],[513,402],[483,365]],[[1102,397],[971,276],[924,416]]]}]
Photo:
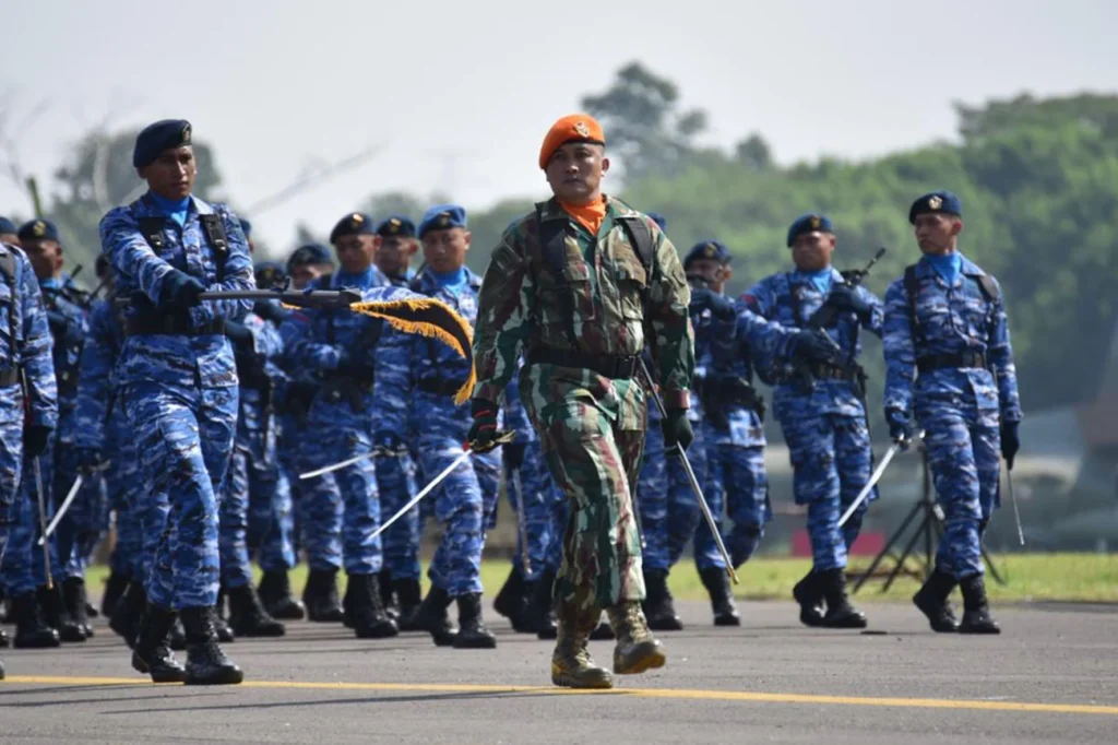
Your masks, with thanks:
[{"label": "hazy white sky above the trees and soldiers", "polygon": [[[1108,0],[0,0],[0,17],[3,105],[49,102],[20,140],[40,178],[113,112],[114,126],[189,119],[240,205],[381,145],[246,215],[284,251],[297,220],[326,232],[375,191],[542,196],[547,128],[632,59],[707,110],[710,143],[756,130],[781,162],[951,138],[954,101],[1118,91]],[[12,211],[27,199],[0,181]]]}]

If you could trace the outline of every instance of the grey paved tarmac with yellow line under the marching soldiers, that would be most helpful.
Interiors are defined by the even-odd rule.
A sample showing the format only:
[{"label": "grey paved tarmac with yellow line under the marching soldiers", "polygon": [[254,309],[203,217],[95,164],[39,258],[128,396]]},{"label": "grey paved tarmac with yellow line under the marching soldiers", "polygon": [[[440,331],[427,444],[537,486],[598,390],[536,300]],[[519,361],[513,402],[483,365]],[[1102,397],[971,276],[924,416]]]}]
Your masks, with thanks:
[{"label": "grey paved tarmac with yellow line under the marching soldiers", "polygon": [[[0,651],[0,743],[1118,742],[1114,607],[998,607],[1002,635],[975,638],[934,634],[902,605],[865,606],[884,632],[871,635],[805,629],[775,602],[714,629],[680,603],[667,667],[584,694],[552,688],[550,643],[490,602],[495,651],[301,622],[227,645],[246,681],[224,688],[145,682],[98,619],[84,644]],[[612,649],[591,642],[601,663]]]}]

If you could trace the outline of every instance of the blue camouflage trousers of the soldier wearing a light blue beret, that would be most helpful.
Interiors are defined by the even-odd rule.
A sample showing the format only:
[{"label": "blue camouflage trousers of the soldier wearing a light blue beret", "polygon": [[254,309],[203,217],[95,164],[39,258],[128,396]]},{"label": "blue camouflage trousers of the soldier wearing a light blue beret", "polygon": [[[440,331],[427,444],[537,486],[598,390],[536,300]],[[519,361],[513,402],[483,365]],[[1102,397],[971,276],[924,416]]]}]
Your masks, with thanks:
[{"label": "blue camouflage trousers of the soldier wearing a light blue beret", "polygon": [[[439,411],[443,407],[436,407]],[[436,426],[421,427],[416,443],[423,472],[434,479],[462,455],[470,431],[461,415]],[[435,519],[443,525],[443,540],[435,549],[427,575],[451,597],[482,592],[482,549],[485,526],[496,509],[501,454],[494,450],[459,463],[430,497]]]}]

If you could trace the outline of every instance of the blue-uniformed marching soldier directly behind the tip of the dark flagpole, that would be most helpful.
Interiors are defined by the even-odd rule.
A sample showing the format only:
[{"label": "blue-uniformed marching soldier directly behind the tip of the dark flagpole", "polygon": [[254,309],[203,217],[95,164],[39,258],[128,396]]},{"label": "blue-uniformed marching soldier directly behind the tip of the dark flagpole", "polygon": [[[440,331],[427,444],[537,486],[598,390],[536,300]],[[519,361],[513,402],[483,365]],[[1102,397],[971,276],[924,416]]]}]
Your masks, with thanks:
[{"label": "blue-uniformed marching soldier directly behind the tip of the dark flagpole", "polygon": [[[373,264],[377,236],[372,218],[353,213],[331,232],[341,268],[320,277],[320,289],[368,290],[388,285]],[[309,370],[322,380],[306,418],[300,453],[303,471],[320,469],[372,449],[373,358],[380,356],[381,321],[344,309],[303,309],[281,327],[288,370]],[[303,602],[312,621],[344,621],[362,639],[392,636],[380,593],[383,565],[372,459],[303,482],[302,528],[310,576]],[[335,575],[344,562],[348,576],[342,609],[337,604]]]}]

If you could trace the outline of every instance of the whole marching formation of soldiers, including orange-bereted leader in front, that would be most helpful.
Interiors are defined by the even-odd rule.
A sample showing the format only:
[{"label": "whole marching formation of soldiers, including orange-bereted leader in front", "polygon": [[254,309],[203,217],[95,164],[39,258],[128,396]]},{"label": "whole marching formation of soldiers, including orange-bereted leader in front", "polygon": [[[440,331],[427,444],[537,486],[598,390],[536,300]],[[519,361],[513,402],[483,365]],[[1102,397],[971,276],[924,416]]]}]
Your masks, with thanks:
[{"label": "whole marching formation of soldiers, including orange-bereted leader in front", "polygon": [[[792,223],[789,271],[731,300],[724,244],[681,257],[662,216],[603,192],[591,117],[556,122],[538,164],[552,198],[509,225],[484,277],[466,267],[457,205],[417,221],[351,213],[330,247],[254,264],[252,226],[192,195],[181,120],[139,135],[148,190],[102,219],[93,293],[64,271],[48,219],[0,218],[11,642],[82,642],[100,612],[135,670],[201,685],[241,681],[222,642],[304,617],[494,648],[481,567],[503,488],[518,546],[493,609],[555,640],[555,685],[608,688],[665,664],[653,632],[682,629],[667,581],[689,545],[713,623],[741,623],[731,579],[773,517],[755,380],[773,388],[807,513],[799,619],[864,628],[845,577],[878,498],[863,332],[883,340],[890,436],[923,438],[945,515],[913,602],[937,632],[997,633],[980,540],[1021,407],[1001,290],[958,249],[959,199],[912,204],[921,255],[884,301],[862,286],[869,268],[833,267],[823,214]],[[111,528],[98,610],[85,573]],[[590,639],[616,640],[610,669]]]}]

